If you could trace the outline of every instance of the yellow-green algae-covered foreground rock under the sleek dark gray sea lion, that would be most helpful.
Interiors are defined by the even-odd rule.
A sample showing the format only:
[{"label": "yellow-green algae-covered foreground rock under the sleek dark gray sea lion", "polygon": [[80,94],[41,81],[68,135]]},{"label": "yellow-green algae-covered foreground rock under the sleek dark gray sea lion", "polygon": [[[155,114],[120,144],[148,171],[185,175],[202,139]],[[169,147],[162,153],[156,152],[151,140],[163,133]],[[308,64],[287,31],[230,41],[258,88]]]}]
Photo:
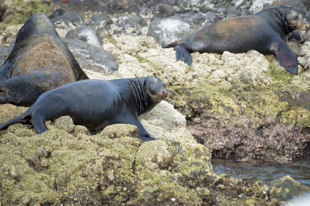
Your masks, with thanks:
[{"label": "yellow-green algae-covered foreground rock under the sleek dark gray sea lion", "polygon": [[225,205],[233,199],[239,205],[276,205],[275,198],[266,198],[264,184],[214,174],[211,152],[196,143],[171,104],[161,102],[141,116],[158,141],[141,141],[136,126],[128,124],[91,134],[69,117],[47,122],[50,130],[41,135],[21,124],[1,131],[0,202]]}]

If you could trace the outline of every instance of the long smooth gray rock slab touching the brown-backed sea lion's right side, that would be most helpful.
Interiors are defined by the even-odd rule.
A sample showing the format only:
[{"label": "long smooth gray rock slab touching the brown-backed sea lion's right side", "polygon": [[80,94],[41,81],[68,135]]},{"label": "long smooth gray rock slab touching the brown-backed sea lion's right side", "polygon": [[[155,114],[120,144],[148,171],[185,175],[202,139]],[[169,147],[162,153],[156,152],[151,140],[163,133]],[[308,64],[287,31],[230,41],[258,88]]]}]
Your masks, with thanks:
[{"label": "long smooth gray rock slab touching the brown-backed sea lion's right side", "polygon": [[118,69],[116,58],[110,52],[77,39],[63,38],[63,42],[68,46],[82,69],[101,73],[114,73]]}]

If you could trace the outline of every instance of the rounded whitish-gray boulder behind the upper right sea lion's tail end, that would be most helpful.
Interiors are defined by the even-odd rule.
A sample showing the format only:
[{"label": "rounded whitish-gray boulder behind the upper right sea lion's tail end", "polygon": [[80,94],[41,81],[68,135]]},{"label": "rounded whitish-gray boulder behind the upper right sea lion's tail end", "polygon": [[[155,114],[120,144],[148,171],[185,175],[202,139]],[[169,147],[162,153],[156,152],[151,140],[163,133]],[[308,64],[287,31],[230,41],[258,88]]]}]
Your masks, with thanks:
[{"label": "rounded whitish-gray boulder behind the upper right sea lion's tail end", "polygon": [[165,19],[155,19],[149,25],[148,34],[156,39],[158,43],[167,45],[181,40],[195,31],[188,23],[178,16],[169,16]]}]

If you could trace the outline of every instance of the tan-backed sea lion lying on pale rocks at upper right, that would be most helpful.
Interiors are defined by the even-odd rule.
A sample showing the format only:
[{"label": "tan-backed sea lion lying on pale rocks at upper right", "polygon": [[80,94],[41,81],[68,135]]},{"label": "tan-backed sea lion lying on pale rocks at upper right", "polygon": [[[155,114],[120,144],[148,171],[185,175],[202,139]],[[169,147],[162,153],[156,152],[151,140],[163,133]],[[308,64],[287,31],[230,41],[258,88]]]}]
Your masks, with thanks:
[{"label": "tan-backed sea lion lying on pale rocks at upper right", "polygon": [[287,34],[293,30],[307,30],[309,24],[294,8],[280,6],[251,16],[239,16],[206,27],[191,36],[164,48],[175,47],[176,60],[192,65],[192,52],[247,52],[254,49],[261,54],[275,54],[287,71],[296,74],[298,64],[287,45]]}]

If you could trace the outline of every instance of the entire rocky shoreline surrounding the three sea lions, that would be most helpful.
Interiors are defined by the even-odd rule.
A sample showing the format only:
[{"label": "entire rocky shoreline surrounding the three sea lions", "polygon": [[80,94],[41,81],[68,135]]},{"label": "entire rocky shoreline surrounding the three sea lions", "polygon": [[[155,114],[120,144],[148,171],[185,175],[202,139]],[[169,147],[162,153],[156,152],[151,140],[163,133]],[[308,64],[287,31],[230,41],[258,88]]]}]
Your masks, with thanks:
[{"label": "entire rocky shoreline surrounding the three sea lions", "polygon": [[[298,56],[297,76],[280,67],[273,56],[255,51],[195,53],[189,67],[176,62],[173,49],[161,47],[172,36],[181,38],[176,30],[191,34],[208,23],[251,14],[263,4],[156,1],[162,5],[144,2],[147,6],[142,7],[141,2],[136,6],[132,2],[136,1],[102,1],[94,11],[85,10],[93,1],[50,1],[50,14],[63,8],[68,15],[55,15],[51,21],[90,78],[157,76],[167,84],[167,101],[139,117],[159,140],[141,142],[130,125],[90,134],[69,117],[48,122],[50,131],[43,135],[31,126],[10,126],[0,131],[0,202],[280,205],[309,192],[289,176],[268,184],[214,174],[211,167],[212,155],[276,162],[309,157],[309,30],[289,42]],[[304,3],[304,9],[309,12],[309,4]],[[20,27],[10,25],[1,32],[1,65]],[[10,104],[0,108],[0,124],[25,111]]]}]

